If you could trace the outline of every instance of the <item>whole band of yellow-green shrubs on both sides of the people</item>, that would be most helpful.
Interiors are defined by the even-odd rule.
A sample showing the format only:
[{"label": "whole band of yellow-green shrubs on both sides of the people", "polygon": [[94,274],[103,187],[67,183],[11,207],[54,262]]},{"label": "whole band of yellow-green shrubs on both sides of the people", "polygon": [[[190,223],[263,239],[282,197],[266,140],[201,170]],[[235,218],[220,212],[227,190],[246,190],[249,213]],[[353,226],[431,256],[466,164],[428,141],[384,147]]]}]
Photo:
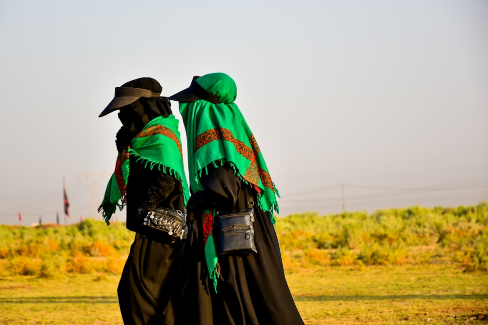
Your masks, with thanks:
[{"label": "whole band of yellow-green shrubs on both sides of the people", "polygon": [[[488,271],[488,205],[291,214],[275,226],[285,268],[454,263]],[[0,274],[120,273],[134,233],[86,219],[71,226],[0,226]]]}]

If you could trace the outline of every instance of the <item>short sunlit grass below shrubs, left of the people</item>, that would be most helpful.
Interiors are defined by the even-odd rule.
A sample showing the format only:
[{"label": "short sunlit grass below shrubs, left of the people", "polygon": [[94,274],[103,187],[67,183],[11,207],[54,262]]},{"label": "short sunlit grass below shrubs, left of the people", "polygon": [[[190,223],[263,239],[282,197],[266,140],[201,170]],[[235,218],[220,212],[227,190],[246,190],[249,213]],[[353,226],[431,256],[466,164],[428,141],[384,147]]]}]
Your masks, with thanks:
[{"label": "short sunlit grass below shrubs, left of the people", "polygon": [[118,276],[0,278],[0,324],[122,324]]}]

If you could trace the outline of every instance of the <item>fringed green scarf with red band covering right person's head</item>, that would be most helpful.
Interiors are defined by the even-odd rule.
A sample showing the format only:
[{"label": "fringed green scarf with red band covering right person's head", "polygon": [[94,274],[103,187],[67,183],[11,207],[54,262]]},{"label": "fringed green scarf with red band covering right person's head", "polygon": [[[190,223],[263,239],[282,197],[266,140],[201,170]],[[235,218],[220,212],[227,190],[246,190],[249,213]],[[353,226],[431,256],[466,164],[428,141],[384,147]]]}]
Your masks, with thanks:
[{"label": "fringed green scarf with red band covering right person's head", "polygon": [[201,76],[196,82],[220,103],[206,100],[180,102],[180,113],[186,129],[188,168],[192,191],[202,191],[202,173],[210,164],[215,167],[229,163],[237,176],[258,192],[258,206],[278,210],[279,193],[271,180],[263,154],[239,107],[234,103],[237,87],[224,73]]}]

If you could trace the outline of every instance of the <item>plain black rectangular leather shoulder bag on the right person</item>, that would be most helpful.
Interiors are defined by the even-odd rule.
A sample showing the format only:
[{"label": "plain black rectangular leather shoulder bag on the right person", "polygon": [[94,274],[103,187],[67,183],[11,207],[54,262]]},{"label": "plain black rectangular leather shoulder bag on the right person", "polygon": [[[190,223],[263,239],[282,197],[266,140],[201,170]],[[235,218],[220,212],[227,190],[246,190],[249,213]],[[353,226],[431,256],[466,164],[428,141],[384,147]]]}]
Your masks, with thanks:
[{"label": "plain black rectangular leather shoulder bag on the right person", "polygon": [[257,253],[254,244],[254,201],[249,198],[247,209],[237,212],[217,211],[219,255]]}]

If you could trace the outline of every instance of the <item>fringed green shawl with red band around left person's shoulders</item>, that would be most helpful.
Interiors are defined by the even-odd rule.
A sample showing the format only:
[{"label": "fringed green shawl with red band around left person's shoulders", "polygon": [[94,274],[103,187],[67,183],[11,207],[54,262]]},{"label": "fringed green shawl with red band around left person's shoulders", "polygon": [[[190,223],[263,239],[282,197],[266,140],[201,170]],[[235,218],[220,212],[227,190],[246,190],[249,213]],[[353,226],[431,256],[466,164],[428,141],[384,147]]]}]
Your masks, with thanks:
[{"label": "fringed green shawl with red band around left person's shoulders", "polygon": [[127,150],[123,150],[117,157],[115,172],[110,177],[105,190],[99,212],[103,219],[110,224],[110,218],[117,207],[123,209],[125,204],[125,189],[129,177],[129,157],[145,163],[146,168],[158,168],[178,179],[183,187],[183,199],[188,201],[188,185],[183,168],[182,145],[178,120],[174,115],[159,116],[152,119],[131,141]]}]

